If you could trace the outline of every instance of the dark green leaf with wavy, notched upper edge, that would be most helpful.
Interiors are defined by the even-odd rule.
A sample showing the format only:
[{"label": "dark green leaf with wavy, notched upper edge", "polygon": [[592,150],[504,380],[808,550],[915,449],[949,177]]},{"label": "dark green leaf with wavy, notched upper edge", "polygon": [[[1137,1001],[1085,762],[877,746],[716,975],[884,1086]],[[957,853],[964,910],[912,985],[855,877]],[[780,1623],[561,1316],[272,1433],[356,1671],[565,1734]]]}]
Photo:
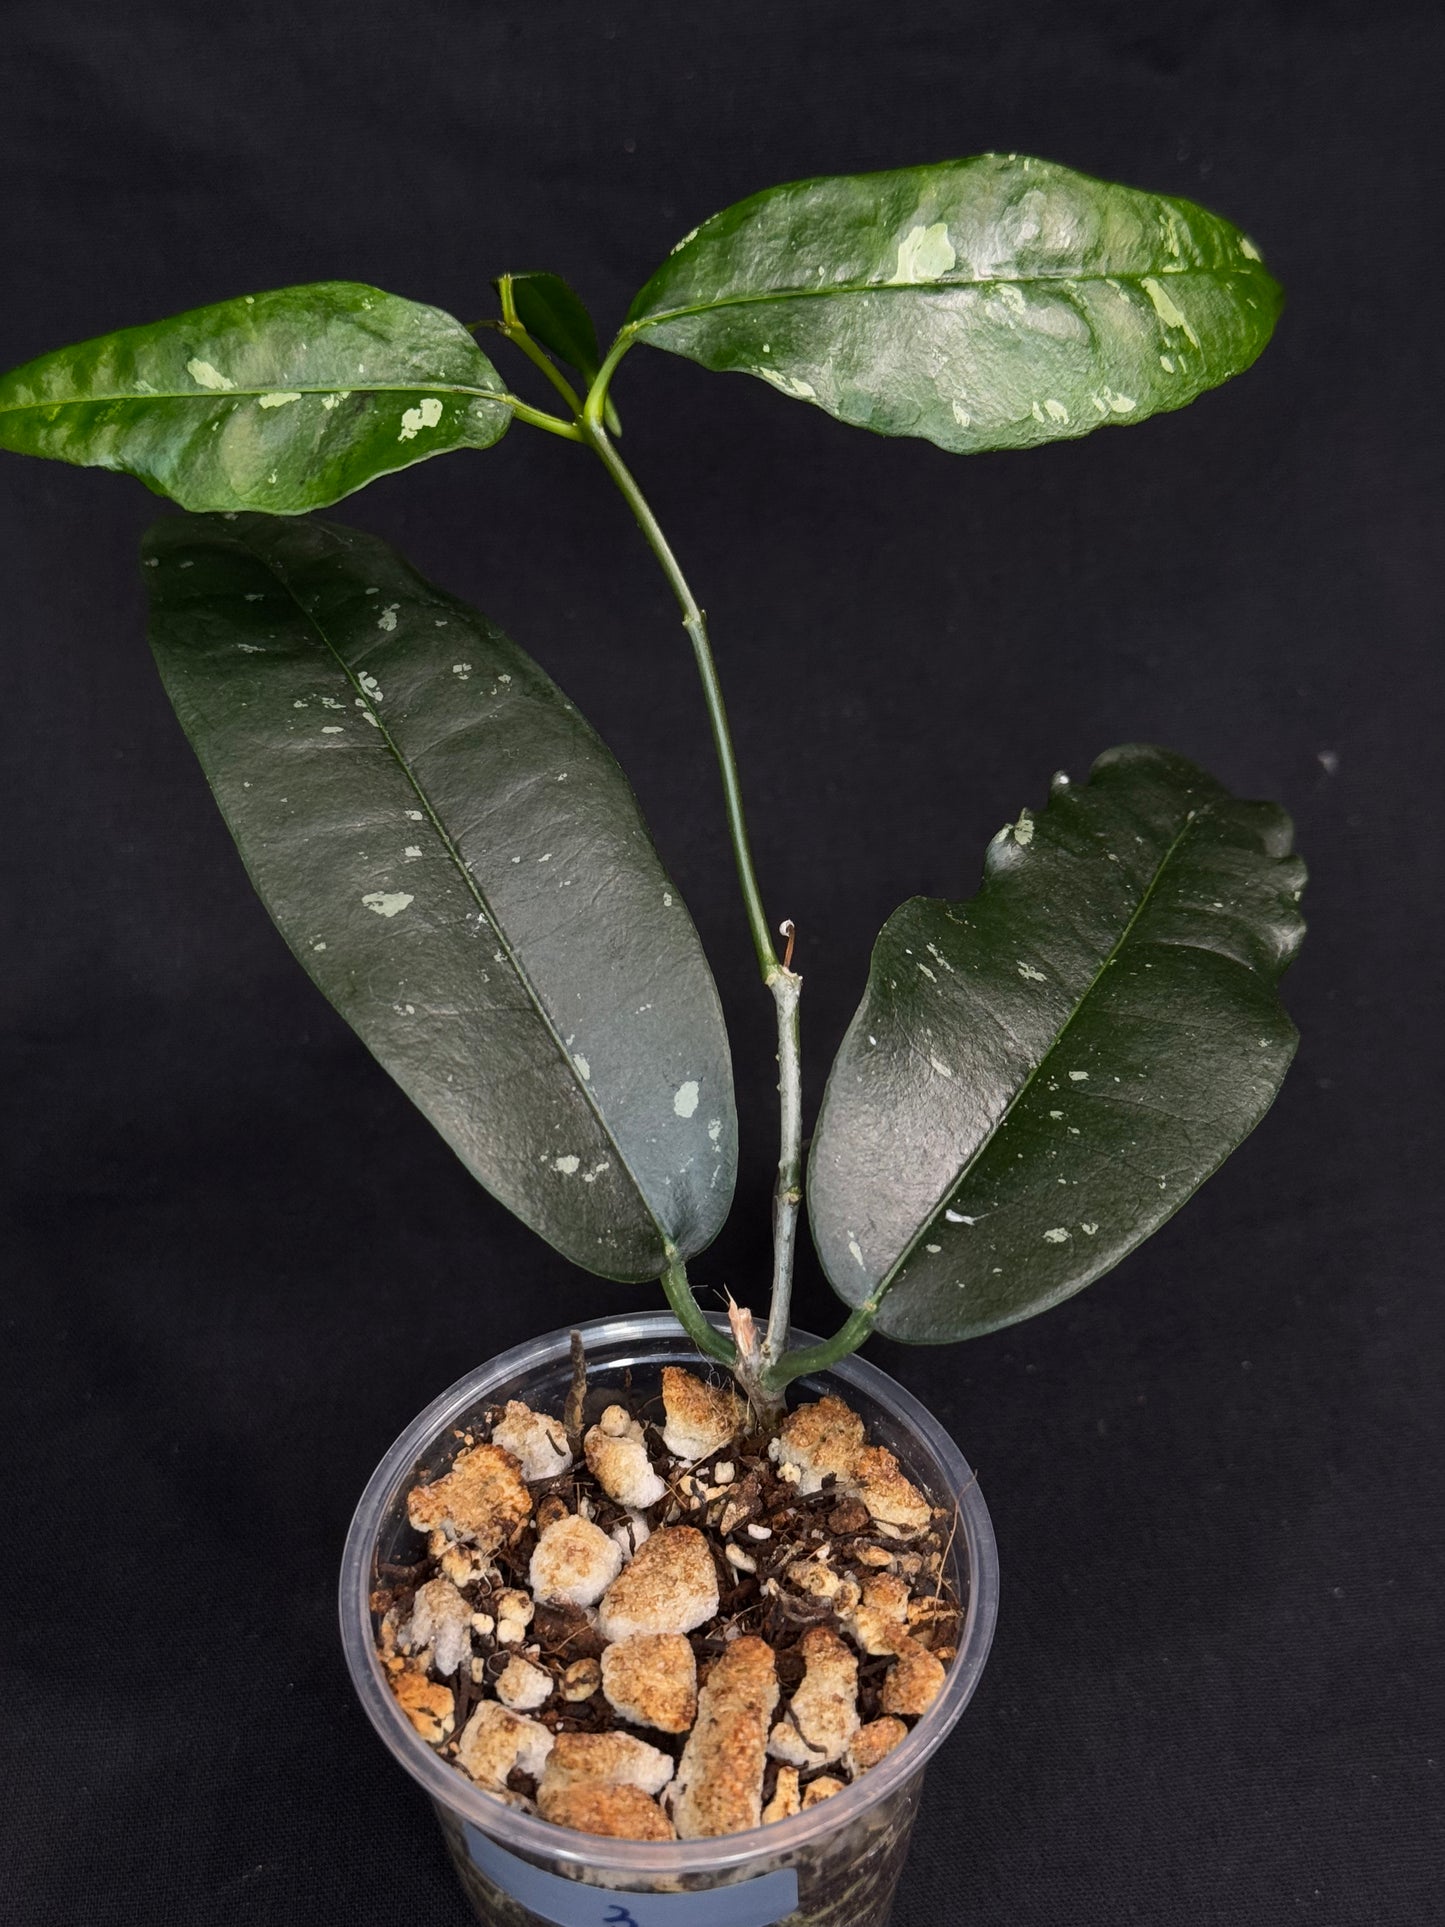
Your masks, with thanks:
[{"label": "dark green leaf with wavy, notched upper edge", "polygon": [[1054,779],[969,902],[882,929],[813,1139],[813,1237],[915,1343],[1046,1310],[1133,1251],[1260,1122],[1295,1052],[1304,925],[1272,804],[1164,750]]}]

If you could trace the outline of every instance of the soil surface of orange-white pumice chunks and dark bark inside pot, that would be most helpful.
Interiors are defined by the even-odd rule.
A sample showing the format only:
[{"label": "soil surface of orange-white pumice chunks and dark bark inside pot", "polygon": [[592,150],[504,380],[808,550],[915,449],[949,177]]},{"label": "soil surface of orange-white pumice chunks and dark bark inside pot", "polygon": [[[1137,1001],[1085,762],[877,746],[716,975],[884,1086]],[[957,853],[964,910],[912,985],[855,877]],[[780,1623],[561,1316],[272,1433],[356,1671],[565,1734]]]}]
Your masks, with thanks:
[{"label": "soil surface of orange-white pumice chunks and dark bark inside pot", "polygon": [[580,1831],[815,1806],[958,1651],[956,1518],[836,1399],[769,1439],[678,1368],[653,1397],[578,1380],[566,1412],[484,1411],[407,1505],[416,1559],[372,1594],[399,1703],[486,1792]]}]

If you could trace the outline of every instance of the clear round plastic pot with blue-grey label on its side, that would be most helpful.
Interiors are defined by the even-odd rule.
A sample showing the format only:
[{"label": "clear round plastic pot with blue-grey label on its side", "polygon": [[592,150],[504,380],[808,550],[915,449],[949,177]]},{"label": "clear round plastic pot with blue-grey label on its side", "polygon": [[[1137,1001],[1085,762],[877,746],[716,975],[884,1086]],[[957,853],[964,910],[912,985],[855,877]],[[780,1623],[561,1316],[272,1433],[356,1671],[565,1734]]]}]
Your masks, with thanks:
[{"label": "clear round plastic pot with blue-grey label on its side", "polygon": [[[665,1364],[699,1366],[669,1314],[584,1326],[590,1389],[622,1386],[647,1397]],[[815,1343],[807,1333],[794,1341]],[[705,1366],[701,1366],[705,1370]],[[435,1808],[466,1896],[497,1927],[882,1927],[907,1854],[923,1767],[969,1703],[998,1611],[998,1557],[988,1509],[961,1453],[902,1386],[861,1359],[800,1380],[794,1397],[836,1391],[869,1438],[894,1451],[934,1505],[956,1513],[952,1578],[967,1601],[958,1657],[942,1694],[907,1740],[861,1781],[796,1819],[719,1840],[603,1840],[491,1800],[439,1757],[397,1705],[376,1657],[370,1596],[376,1563],[407,1565],[416,1534],[407,1491],[435,1476],[487,1405],[524,1399],[561,1412],[570,1386],[568,1333],[553,1332],[459,1380],[397,1439],[368,1484],[347,1536],[341,1636],[351,1678],[383,1742]]]}]

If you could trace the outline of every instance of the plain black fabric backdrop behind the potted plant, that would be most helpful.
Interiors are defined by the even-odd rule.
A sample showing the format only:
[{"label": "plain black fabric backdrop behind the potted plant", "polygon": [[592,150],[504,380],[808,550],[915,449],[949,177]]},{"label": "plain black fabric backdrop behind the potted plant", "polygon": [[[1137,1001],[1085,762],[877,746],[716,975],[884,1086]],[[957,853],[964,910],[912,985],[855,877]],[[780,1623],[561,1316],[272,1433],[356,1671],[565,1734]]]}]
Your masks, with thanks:
[{"label": "plain black fabric backdrop behind the potted plant", "polygon": [[[1245,380],[956,461],[638,353],[628,451],[707,601],[811,1100],[906,896],[965,894],[1056,767],[1160,740],[1283,798],[1314,883],[1291,1081],[1114,1278],[871,1345],[994,1513],[994,1655],[898,1927],[1439,1919],[1433,4],[10,0],[0,362],[347,276],[605,322],[757,187],[988,146],[1202,198],[1289,289]],[[649,1305],[472,1185],[291,962],[150,669],[127,480],[0,462],[6,1636],[0,1917],[460,1923],[351,1700],[372,1465],[520,1337]],[[759,1293],[755,989],[676,617],[578,451],[383,482],[383,532],[634,777],[715,960],[746,1152],[696,1266]],[[800,1318],[836,1320],[811,1260]]]}]

